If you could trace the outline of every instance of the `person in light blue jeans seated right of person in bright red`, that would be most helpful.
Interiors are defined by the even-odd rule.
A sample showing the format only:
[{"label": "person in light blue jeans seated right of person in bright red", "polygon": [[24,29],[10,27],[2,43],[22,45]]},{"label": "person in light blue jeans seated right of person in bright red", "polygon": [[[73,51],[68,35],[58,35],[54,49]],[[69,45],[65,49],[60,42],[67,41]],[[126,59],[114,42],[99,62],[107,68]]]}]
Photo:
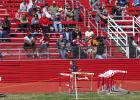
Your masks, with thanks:
[{"label": "person in light blue jeans seated right of person in bright red", "polygon": [[55,32],[62,32],[62,17],[60,13],[56,13],[53,17],[53,26],[55,29]]}]

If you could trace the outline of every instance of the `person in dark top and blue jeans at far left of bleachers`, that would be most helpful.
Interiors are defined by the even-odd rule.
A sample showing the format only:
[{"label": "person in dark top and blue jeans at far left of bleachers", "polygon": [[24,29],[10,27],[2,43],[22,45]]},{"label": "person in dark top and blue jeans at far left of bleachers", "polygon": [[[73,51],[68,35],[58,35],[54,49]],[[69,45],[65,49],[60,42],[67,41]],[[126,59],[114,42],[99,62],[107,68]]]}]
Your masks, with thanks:
[{"label": "person in dark top and blue jeans at far left of bleachers", "polygon": [[[9,33],[10,33],[10,27],[11,27],[11,22],[8,19],[8,16],[4,17],[4,21],[2,23],[2,38],[9,38]],[[8,39],[3,39],[2,41],[8,41]]]}]

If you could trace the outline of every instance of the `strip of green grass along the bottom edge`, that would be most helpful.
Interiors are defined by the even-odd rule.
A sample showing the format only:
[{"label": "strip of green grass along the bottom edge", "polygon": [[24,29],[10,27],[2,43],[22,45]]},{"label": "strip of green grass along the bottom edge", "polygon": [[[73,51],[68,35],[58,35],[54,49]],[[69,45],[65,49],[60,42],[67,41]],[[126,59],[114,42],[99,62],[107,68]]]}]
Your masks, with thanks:
[{"label": "strip of green grass along the bottom edge", "polygon": [[[68,95],[66,93],[7,94],[5,97],[0,97],[0,100],[75,100],[75,95]],[[99,96],[96,93],[81,93],[78,100],[140,100],[140,92],[118,96]]]}]

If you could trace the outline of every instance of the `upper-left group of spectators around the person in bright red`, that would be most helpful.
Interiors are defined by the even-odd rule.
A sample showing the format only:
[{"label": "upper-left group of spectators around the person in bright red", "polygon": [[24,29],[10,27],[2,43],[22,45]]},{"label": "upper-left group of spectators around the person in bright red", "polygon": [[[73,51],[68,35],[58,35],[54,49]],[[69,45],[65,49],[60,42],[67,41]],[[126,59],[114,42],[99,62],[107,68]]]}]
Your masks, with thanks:
[{"label": "upper-left group of spectators around the person in bright red", "polygon": [[[44,0],[41,0],[41,2],[43,1]],[[75,18],[74,16],[77,17]],[[45,24],[46,26],[51,25],[51,27],[48,28],[53,29],[54,32],[62,32],[62,21],[79,21],[78,16],[78,12],[75,13],[68,3],[64,7],[60,7],[57,6],[56,1],[52,1],[52,5],[44,3],[42,6],[39,6],[37,1],[30,0],[29,3],[27,3],[23,0],[15,15],[15,19],[19,21],[18,24],[22,31],[27,28],[36,28],[36,26],[42,28]],[[42,20],[42,18],[44,20]],[[26,22],[24,25],[22,23],[23,20]],[[34,23],[36,25],[33,25]],[[28,26],[27,24],[31,25]]]}]

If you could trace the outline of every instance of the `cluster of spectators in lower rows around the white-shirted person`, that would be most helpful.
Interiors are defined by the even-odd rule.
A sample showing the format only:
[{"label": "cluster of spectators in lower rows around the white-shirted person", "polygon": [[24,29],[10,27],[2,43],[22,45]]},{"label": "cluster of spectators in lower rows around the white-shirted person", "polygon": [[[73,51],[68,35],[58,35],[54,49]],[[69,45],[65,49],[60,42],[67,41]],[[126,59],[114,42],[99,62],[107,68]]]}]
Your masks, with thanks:
[{"label": "cluster of spectators in lower rows around the white-shirted person", "polygon": [[[62,59],[103,59],[105,57],[103,56],[106,48],[105,38],[95,36],[90,26],[88,26],[88,30],[84,34],[82,35],[78,27],[74,30],[65,28],[56,43]],[[102,46],[103,48],[101,49]]]}]

